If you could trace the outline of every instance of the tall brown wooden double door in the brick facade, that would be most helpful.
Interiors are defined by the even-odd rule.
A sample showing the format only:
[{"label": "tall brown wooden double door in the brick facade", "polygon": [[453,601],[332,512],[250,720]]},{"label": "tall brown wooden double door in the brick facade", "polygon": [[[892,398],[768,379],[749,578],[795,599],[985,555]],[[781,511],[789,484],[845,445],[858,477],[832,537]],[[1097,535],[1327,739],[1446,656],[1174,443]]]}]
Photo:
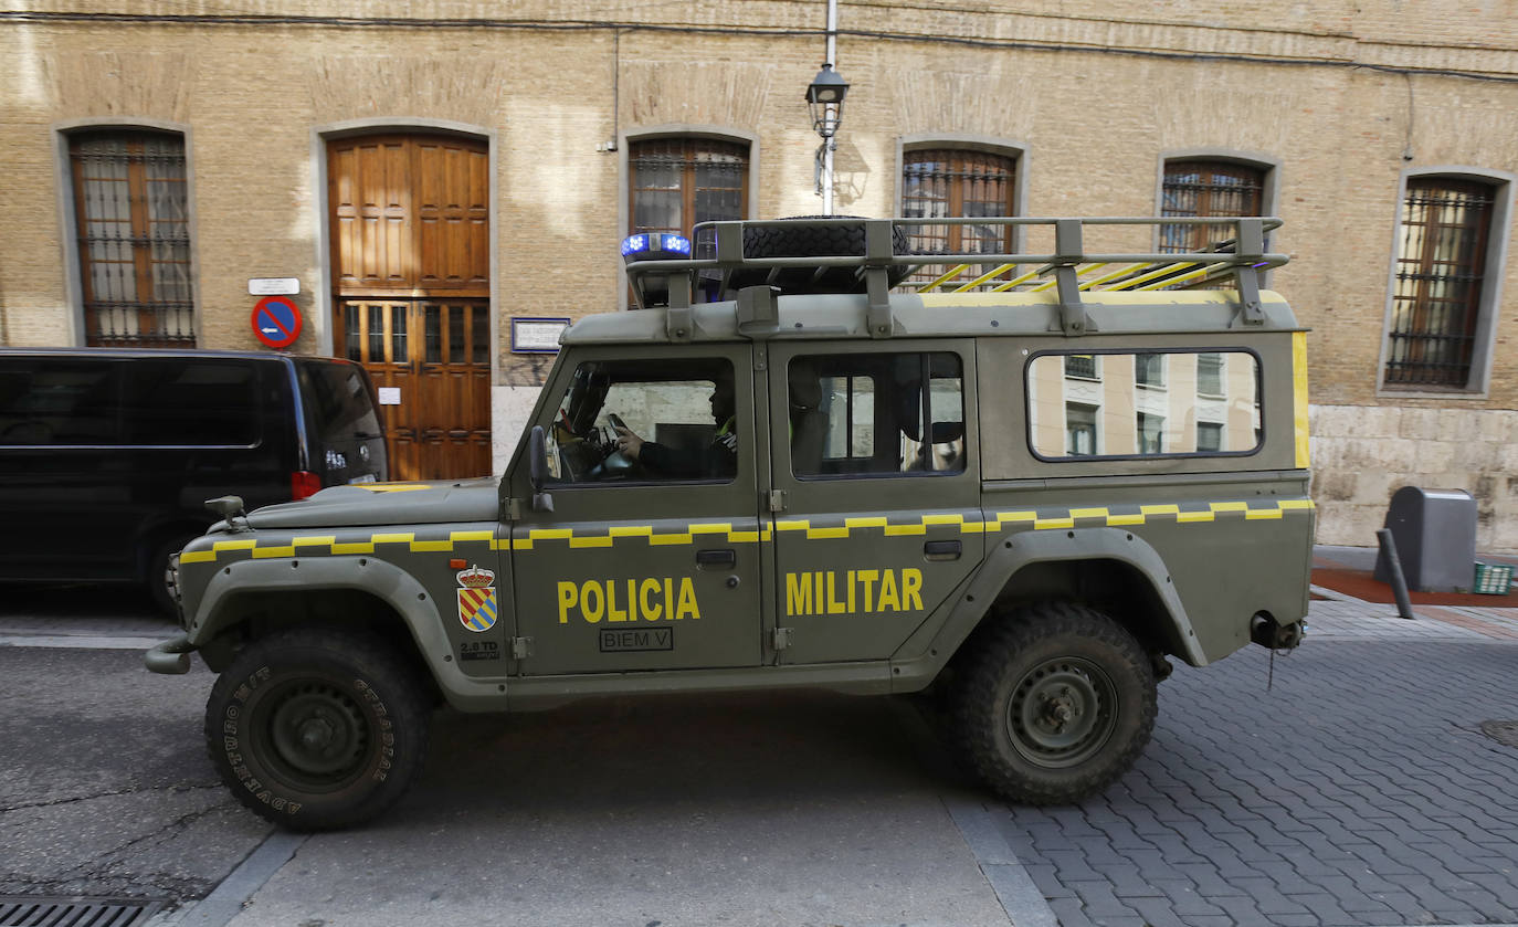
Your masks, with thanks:
[{"label": "tall brown wooden double door in the brick facade", "polygon": [[486,143],[328,143],[334,352],[381,388],[392,479],[490,473]]}]

